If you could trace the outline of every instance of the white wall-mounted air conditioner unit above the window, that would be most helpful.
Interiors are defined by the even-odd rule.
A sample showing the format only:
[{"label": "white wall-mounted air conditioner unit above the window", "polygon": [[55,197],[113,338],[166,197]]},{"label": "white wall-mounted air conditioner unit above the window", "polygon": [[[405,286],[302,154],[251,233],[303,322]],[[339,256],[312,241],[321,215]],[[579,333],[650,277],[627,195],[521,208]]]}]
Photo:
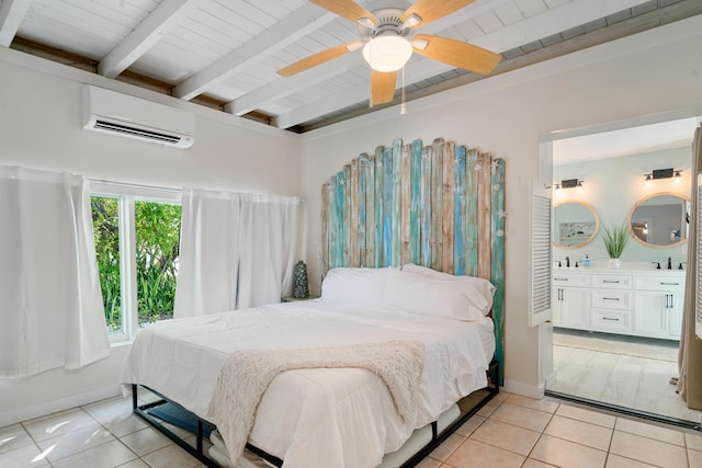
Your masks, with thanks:
[{"label": "white wall-mounted air conditioner unit above the window", "polygon": [[89,84],[82,98],[86,129],[176,148],[195,140],[195,116],[189,112]]}]

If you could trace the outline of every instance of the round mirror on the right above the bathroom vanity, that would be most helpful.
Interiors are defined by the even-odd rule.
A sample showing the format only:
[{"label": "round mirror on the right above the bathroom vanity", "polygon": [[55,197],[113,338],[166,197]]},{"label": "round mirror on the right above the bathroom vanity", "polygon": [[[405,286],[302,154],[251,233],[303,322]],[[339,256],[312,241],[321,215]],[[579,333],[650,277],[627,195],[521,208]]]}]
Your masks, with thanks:
[{"label": "round mirror on the right above the bathroom vanity", "polygon": [[690,199],[676,193],[656,193],[639,199],[629,212],[629,227],[638,242],[668,248],[688,241]]}]

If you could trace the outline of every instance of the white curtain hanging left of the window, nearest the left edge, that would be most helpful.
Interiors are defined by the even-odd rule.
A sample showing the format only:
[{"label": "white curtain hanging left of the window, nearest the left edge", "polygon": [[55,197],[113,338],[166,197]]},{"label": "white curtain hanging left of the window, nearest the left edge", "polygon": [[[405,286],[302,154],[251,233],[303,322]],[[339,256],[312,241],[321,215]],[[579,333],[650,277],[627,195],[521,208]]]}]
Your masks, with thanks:
[{"label": "white curtain hanging left of the window, nearest the left edge", "polygon": [[110,355],[82,176],[0,167],[0,377]]}]

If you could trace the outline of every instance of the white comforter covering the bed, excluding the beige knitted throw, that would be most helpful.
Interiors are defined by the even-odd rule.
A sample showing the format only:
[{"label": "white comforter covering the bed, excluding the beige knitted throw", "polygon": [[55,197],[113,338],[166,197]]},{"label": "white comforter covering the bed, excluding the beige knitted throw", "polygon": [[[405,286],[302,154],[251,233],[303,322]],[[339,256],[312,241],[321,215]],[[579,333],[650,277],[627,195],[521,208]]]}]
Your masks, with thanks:
[{"label": "white comforter covering the bed, excluding the beige knitted throw", "polygon": [[374,467],[411,432],[487,385],[492,323],[358,310],[321,301],[157,323],[141,330],[125,361],[123,384],[163,393],[206,420],[219,372],[236,350],[308,349],[421,341],[424,363],[417,420],[405,422],[383,380],[366,369],[288,370],[264,393],[249,442],[284,467]]}]

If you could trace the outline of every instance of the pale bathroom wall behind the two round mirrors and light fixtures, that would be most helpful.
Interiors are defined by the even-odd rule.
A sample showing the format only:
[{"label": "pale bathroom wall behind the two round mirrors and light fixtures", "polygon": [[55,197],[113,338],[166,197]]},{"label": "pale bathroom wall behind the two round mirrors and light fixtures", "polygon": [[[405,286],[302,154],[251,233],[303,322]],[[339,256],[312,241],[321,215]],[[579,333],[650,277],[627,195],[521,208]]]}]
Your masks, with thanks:
[{"label": "pale bathroom wall behind the two round mirrors and light fixtures", "polygon": [[[580,249],[554,247],[554,260],[563,260],[566,255],[569,255],[571,261],[582,260],[587,253],[592,261],[607,261],[608,255],[602,243],[602,226],[623,222],[636,203],[655,193],[677,193],[689,198],[692,180],[691,162],[692,148],[687,146],[555,167],[554,181],[579,179],[585,183],[581,190],[565,189],[554,194],[554,203],[566,199],[586,202],[596,209],[601,225],[597,238]],[[649,186],[644,183],[644,174],[649,174],[654,169],[665,168],[681,169],[680,183],[676,183],[672,179],[652,181]],[[622,261],[660,262],[663,267],[666,267],[668,256],[677,266],[680,262],[687,262],[687,249],[652,248],[632,239],[624,249]]]}]

